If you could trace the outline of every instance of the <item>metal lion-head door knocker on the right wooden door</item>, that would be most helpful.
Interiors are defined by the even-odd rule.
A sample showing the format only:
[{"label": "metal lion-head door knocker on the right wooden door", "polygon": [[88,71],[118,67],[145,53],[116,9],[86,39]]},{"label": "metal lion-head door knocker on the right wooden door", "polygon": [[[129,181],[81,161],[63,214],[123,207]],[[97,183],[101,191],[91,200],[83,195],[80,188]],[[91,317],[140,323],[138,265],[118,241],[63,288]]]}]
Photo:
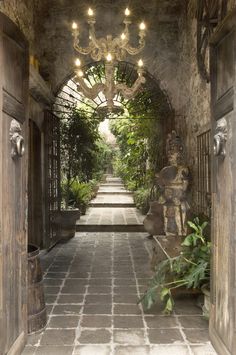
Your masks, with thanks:
[{"label": "metal lion-head door knocker on the right wooden door", "polygon": [[215,156],[224,157],[226,154],[225,146],[227,142],[227,121],[225,118],[221,118],[217,121],[214,142],[213,142],[213,151]]}]

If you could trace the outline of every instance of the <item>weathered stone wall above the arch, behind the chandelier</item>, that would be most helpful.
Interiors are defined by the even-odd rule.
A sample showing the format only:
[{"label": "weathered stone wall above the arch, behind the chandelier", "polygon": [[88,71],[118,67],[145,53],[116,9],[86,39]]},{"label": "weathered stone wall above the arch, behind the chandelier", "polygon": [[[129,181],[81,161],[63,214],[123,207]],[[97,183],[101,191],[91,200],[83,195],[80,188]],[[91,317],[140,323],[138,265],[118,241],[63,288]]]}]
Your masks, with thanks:
[{"label": "weathered stone wall above the arch, behind the chandelier", "polygon": [[[146,47],[140,56],[144,59],[148,71],[160,81],[160,86],[171,96],[175,92],[175,68],[177,63],[178,42],[178,15],[181,12],[180,0],[150,0],[145,4],[140,0],[129,2],[132,10],[133,24],[131,38],[137,45],[138,24],[143,19],[147,23]],[[81,30],[81,44],[88,42],[87,9],[85,0],[50,1],[44,8],[44,21],[38,23],[37,43],[39,45],[38,57],[41,63],[41,72],[44,78],[52,82],[56,91],[63,80],[73,72],[73,63],[76,53],[73,49],[71,24],[77,21]],[[123,31],[122,21],[125,0],[97,0],[96,6],[96,32],[98,37],[109,33],[119,35]],[[78,54],[77,54],[78,55]],[[140,58],[127,57],[127,61],[136,63]],[[83,64],[87,65],[91,59],[80,56]]]}]

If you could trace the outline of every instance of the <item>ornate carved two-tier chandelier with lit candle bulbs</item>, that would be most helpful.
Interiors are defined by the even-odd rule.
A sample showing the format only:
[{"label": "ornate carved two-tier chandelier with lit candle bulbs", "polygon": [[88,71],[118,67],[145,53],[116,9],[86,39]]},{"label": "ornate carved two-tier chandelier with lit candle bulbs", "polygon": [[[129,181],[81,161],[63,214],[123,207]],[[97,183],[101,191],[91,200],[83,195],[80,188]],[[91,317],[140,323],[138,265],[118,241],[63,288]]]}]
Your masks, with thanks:
[{"label": "ornate carved two-tier chandelier with lit candle bulbs", "polygon": [[100,92],[104,94],[107,100],[107,108],[109,112],[114,110],[114,97],[120,93],[125,99],[133,98],[140,90],[142,84],[145,83],[143,61],[138,61],[138,77],[132,87],[127,86],[125,83],[115,82],[115,67],[119,61],[124,61],[127,53],[130,55],[139,54],[145,46],[145,30],[146,25],[144,22],[139,25],[139,45],[134,48],[130,45],[129,26],[131,25],[130,10],[125,9],[124,18],[124,32],[113,38],[112,35],[107,35],[106,38],[97,38],[95,34],[95,14],[94,11],[88,9],[88,24],[89,24],[89,44],[87,47],[81,47],[79,41],[79,27],[76,22],[72,24],[72,34],[74,37],[74,48],[78,53],[83,55],[90,55],[95,61],[105,61],[105,82],[96,83],[93,86],[88,86],[81,70],[81,60],[75,60],[75,72],[77,76],[78,91],[81,91],[87,98],[94,100]]}]

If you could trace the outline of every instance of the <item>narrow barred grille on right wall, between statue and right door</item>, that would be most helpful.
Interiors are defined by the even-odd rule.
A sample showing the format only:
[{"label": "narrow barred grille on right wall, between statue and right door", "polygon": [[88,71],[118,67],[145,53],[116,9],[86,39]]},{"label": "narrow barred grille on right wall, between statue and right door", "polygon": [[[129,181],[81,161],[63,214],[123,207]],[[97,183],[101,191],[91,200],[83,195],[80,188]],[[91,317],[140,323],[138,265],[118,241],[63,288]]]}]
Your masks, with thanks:
[{"label": "narrow barred grille on right wall, between statue and right door", "polygon": [[199,214],[210,217],[211,214],[211,154],[210,130],[197,137],[198,186],[197,209]]}]

